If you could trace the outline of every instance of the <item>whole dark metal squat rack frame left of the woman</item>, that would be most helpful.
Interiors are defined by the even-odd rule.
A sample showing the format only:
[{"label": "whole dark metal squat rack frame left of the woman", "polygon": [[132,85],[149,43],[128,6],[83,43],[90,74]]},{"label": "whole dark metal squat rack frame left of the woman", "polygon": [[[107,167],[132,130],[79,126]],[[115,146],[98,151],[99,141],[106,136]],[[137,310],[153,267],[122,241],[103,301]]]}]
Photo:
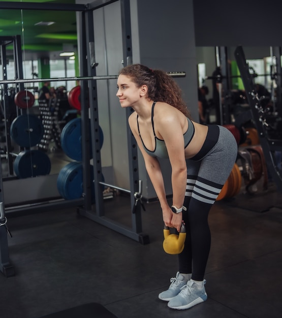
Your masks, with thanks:
[{"label": "whole dark metal squat rack frame left of the woman", "polygon": [[[101,165],[101,153],[100,153],[100,135],[99,135],[99,119],[98,119],[98,99],[97,99],[97,80],[100,79],[96,76],[96,62],[94,49],[94,35],[93,35],[93,10],[107,6],[117,0],[97,0],[86,6],[84,5],[62,5],[62,4],[44,4],[44,3],[13,3],[1,2],[0,9],[30,9],[30,10],[68,10],[79,11],[79,30],[80,37],[82,39],[82,45],[79,46],[80,56],[80,72],[81,79],[81,122],[82,122],[82,165],[83,165],[83,198],[81,200],[69,200],[65,202],[49,201],[47,204],[28,206],[28,211],[36,209],[48,210],[50,206],[54,207],[69,207],[73,205],[78,206],[78,213],[88,217],[100,224],[113,229],[123,235],[126,235],[134,240],[139,241],[142,244],[149,243],[149,237],[142,233],[142,220],[141,220],[141,207],[142,204],[141,192],[142,181],[139,180],[138,173],[138,153],[136,141],[127,125],[127,137],[128,137],[128,155],[129,155],[129,170],[130,170],[130,197],[131,197],[131,211],[132,211],[132,229],[114,222],[104,215],[103,205],[103,190],[102,190],[102,165]],[[131,19],[130,19],[130,1],[119,0],[121,9],[121,27],[122,27],[122,43],[123,43],[123,61],[124,65],[130,65],[132,63],[132,42],[131,42]],[[86,43],[88,46],[86,47]],[[17,63],[18,64],[18,63]],[[32,82],[33,80],[23,80],[22,74],[17,74],[18,80],[15,81],[0,81],[0,84],[4,85],[9,82]],[[173,75],[173,74],[172,74]],[[181,72],[176,76],[184,76]],[[84,80],[84,77],[87,79]],[[101,79],[106,79],[101,77]],[[60,79],[59,79],[60,80]],[[87,80],[87,82],[86,82]],[[39,79],[34,80],[36,82]],[[88,112],[88,96],[86,96],[87,88],[89,91],[90,106],[90,118],[91,124],[89,127],[89,112]],[[91,88],[91,89],[90,89]],[[127,109],[127,117],[131,114],[131,110]],[[96,211],[94,212],[91,207],[91,182],[90,180],[90,140],[88,132],[91,132],[92,149],[93,149],[93,168],[94,168],[94,184],[95,184],[95,201]],[[14,268],[9,260],[8,240],[7,233],[9,234],[7,227],[7,217],[5,216],[5,204],[3,195],[3,178],[2,169],[0,167],[0,204],[3,209],[0,216],[0,270],[5,276],[13,276],[15,274]],[[113,186],[114,187],[114,186]],[[18,211],[24,211],[24,208],[18,209]],[[15,209],[14,211],[17,211]]]}]

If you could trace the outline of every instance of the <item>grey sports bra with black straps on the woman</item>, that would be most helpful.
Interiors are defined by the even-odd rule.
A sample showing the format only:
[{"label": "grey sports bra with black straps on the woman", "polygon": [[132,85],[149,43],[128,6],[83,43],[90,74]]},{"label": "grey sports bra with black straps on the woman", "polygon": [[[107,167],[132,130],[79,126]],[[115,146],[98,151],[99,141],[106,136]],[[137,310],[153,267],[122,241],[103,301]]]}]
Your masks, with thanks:
[{"label": "grey sports bra with black straps on the woman", "polygon": [[[147,149],[146,146],[144,145],[143,139],[142,139],[142,137],[140,135],[139,123],[138,123],[138,115],[137,115],[138,133],[139,133],[139,136],[141,138],[143,147],[144,147],[145,151],[149,155],[151,155],[153,157],[168,158],[168,151],[167,151],[167,147],[166,147],[165,141],[162,140],[162,139],[159,139],[158,137],[156,137],[155,132],[154,132],[153,116],[154,116],[154,105],[155,105],[155,103],[156,102],[153,102],[152,112],[151,112],[151,121],[152,121],[152,128],[153,128],[153,134],[154,134],[154,140],[155,140],[155,148],[154,148],[153,151]],[[188,121],[188,128],[187,128],[187,131],[183,134],[183,137],[184,137],[184,149],[189,145],[189,143],[191,142],[191,140],[192,140],[192,138],[194,136],[194,133],[195,133],[195,127],[194,127],[193,122],[188,117],[186,117],[186,118],[187,118],[187,121]]]}]

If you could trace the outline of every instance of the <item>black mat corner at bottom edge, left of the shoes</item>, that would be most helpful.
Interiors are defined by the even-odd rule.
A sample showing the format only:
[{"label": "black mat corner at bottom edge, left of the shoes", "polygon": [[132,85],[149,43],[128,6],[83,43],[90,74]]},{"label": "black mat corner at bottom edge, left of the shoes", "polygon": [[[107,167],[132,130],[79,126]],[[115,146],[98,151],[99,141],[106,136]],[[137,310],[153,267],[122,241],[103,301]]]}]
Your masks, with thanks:
[{"label": "black mat corner at bottom edge, left of the shoes", "polygon": [[98,303],[80,305],[74,308],[54,312],[40,318],[117,318],[108,309]]}]

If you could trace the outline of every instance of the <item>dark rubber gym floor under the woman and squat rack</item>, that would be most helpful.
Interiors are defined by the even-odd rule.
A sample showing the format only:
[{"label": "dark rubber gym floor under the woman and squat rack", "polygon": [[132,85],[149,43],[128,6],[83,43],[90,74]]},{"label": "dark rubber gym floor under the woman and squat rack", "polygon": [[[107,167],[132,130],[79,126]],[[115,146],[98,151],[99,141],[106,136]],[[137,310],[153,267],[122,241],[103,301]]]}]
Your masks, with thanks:
[{"label": "dark rubber gym floor under the woman and squat rack", "polygon": [[[106,216],[131,227],[129,206],[126,195],[107,199]],[[159,203],[145,203],[145,209],[146,245],[78,215],[76,207],[8,217],[16,274],[0,273],[1,317],[39,318],[89,303],[119,318],[281,317],[282,199],[274,184],[214,204],[208,299],[188,310],[158,299],[175,277],[177,257],[163,250]]]}]

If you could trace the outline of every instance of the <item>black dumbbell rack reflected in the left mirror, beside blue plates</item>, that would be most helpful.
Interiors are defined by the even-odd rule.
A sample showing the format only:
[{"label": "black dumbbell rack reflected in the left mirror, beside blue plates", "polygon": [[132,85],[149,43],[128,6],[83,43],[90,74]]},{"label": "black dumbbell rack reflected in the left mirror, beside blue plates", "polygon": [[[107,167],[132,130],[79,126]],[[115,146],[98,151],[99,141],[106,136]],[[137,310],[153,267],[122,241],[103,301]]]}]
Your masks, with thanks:
[{"label": "black dumbbell rack reflected in the left mirror, beside blue plates", "polygon": [[[39,110],[40,117],[44,126],[44,135],[38,144],[38,148],[43,151],[48,151],[49,143],[54,140],[57,148],[61,148],[60,145],[60,126],[58,122],[58,110],[59,110],[59,99],[53,98],[50,101],[40,100]],[[53,111],[51,111],[53,110]]]}]

